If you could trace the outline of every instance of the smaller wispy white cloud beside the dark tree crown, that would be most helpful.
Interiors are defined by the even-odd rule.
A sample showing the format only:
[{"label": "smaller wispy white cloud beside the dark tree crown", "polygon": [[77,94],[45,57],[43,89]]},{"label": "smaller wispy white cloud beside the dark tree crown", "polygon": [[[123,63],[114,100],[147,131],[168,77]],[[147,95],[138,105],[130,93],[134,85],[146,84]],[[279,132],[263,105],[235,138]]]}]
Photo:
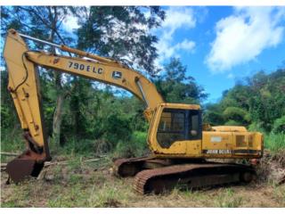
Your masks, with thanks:
[{"label": "smaller wispy white cloud beside the dark tree crown", "polygon": [[172,6],[166,11],[166,19],[161,24],[159,43],[157,45],[159,60],[157,64],[172,56],[179,56],[178,52],[184,50],[192,52],[195,43],[189,39],[174,43],[173,37],[177,29],[192,29],[196,26],[193,11],[189,7]]}]

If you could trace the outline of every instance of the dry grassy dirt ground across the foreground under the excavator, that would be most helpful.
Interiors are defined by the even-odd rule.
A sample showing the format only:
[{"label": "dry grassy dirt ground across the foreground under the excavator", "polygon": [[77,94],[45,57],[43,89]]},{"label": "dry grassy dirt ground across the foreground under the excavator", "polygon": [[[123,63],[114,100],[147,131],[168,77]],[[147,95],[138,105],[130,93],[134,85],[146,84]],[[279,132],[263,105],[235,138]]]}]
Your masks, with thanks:
[{"label": "dry grassy dirt ground across the foreground under the excavator", "polygon": [[132,178],[113,177],[110,166],[110,160],[69,161],[19,185],[6,185],[2,172],[1,207],[285,207],[285,185],[270,181],[140,195]]}]

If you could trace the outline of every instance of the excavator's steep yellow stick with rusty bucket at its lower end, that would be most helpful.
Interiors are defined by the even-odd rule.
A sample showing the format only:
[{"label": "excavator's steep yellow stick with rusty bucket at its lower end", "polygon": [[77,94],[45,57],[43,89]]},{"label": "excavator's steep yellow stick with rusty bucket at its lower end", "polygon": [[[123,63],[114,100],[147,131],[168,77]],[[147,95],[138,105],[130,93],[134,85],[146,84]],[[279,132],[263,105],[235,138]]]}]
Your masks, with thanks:
[{"label": "excavator's steep yellow stick with rusty bucket at its lower end", "polygon": [[8,91],[20,119],[27,149],[9,162],[6,172],[12,181],[20,182],[25,177],[37,177],[44,162],[51,160],[42,121],[39,78],[32,62],[26,59],[28,46],[13,29],[8,31],[4,44],[4,60],[9,71]]}]

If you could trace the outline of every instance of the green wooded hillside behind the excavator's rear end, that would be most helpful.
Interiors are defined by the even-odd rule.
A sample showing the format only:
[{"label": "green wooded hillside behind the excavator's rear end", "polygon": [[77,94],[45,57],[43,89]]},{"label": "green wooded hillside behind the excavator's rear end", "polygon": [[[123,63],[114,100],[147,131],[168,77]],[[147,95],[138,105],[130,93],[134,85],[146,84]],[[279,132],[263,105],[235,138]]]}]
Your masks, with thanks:
[{"label": "green wooded hillside behind the excavator's rear end", "polygon": [[242,125],[265,132],[281,132],[285,114],[285,70],[259,71],[236,84],[221,101],[208,104],[206,119],[213,125]]}]

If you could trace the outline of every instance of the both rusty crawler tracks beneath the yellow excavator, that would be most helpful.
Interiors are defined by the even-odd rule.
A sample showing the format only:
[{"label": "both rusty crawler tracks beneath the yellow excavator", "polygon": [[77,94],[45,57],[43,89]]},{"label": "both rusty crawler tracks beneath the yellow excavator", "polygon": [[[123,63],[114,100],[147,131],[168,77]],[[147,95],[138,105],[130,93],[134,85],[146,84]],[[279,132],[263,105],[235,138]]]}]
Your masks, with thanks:
[{"label": "both rusty crawler tracks beneath the yellow excavator", "polygon": [[[150,163],[157,162],[159,167]],[[162,193],[174,187],[199,188],[225,185],[239,181],[250,182],[255,170],[246,165],[217,162],[165,161],[152,157],[119,159],[114,162],[115,175],[134,177],[134,190],[138,193]]]}]

